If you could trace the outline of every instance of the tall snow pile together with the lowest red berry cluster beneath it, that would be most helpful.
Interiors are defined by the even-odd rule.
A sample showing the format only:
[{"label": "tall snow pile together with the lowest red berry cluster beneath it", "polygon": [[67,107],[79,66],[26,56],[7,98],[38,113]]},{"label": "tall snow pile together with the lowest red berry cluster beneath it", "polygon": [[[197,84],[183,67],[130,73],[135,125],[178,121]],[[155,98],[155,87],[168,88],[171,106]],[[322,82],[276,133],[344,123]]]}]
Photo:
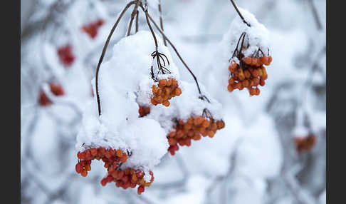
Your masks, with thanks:
[{"label": "tall snow pile together with the lowest red berry cluster beneath it", "polygon": [[[80,169],[78,165],[76,171],[88,171],[89,160],[102,159],[105,168],[108,168],[108,175],[101,182],[102,185],[115,181],[117,186],[129,188],[136,183],[140,185],[138,193],[142,193],[144,187],[153,180],[150,170],[167,153],[164,128],[152,118],[140,118],[138,113],[139,104],[150,103],[152,86],[157,83],[150,73],[154,64],[151,56],[154,49],[150,32],[140,31],[115,44],[112,58],[100,67],[98,92],[101,115],[98,116],[98,103],[94,98],[85,109],[76,144],[79,154],[85,153],[87,157],[83,155],[78,163],[83,162],[82,166],[86,168]],[[159,44],[159,51],[170,61],[166,65],[170,73],[157,73],[157,78],[178,79],[177,67],[167,47]],[[93,85],[94,82],[95,78]],[[93,90],[96,90],[95,87]],[[117,155],[117,151],[126,154],[126,158],[119,156],[120,153]],[[140,175],[143,179],[137,178]]]}]

